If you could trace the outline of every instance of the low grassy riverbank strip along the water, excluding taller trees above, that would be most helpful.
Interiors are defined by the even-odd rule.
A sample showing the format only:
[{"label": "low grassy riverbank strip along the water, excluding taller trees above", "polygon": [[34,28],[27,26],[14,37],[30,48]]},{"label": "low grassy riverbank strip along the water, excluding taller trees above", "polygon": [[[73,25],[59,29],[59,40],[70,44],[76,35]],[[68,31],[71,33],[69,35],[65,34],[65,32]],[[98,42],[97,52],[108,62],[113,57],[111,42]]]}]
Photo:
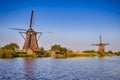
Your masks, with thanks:
[{"label": "low grassy riverbank strip along the water, excluding taller trees above", "polygon": [[16,57],[51,57],[51,58],[74,58],[74,57],[105,57],[105,56],[120,56],[120,52],[92,52],[92,51],[83,51],[83,52],[69,52],[69,53],[55,53],[53,54],[50,51],[39,54],[27,54],[25,52],[16,52],[14,50],[0,50],[0,58],[16,58]]}]

